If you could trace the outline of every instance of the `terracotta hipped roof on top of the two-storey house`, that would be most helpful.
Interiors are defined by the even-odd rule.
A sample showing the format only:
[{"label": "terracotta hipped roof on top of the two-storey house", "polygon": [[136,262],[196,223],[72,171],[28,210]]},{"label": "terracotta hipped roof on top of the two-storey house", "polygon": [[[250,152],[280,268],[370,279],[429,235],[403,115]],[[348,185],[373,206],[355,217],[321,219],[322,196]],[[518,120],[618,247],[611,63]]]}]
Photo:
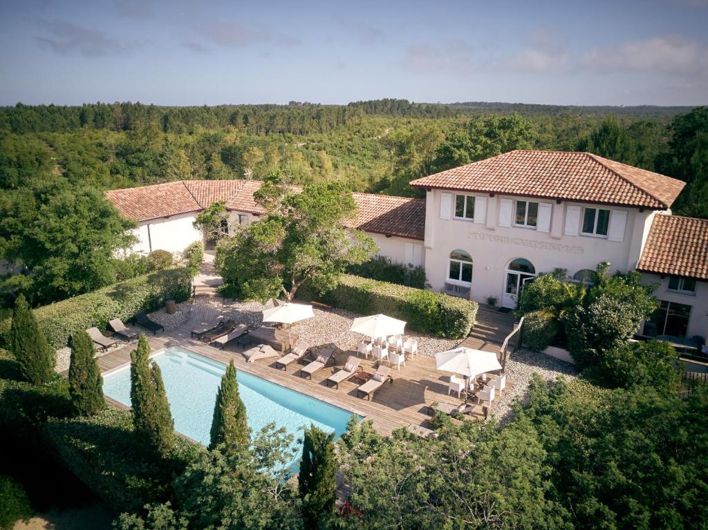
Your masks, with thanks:
[{"label": "terracotta hipped roof on top of the two-storey house", "polygon": [[685,183],[590,153],[519,150],[418,178],[411,185],[667,209]]}]

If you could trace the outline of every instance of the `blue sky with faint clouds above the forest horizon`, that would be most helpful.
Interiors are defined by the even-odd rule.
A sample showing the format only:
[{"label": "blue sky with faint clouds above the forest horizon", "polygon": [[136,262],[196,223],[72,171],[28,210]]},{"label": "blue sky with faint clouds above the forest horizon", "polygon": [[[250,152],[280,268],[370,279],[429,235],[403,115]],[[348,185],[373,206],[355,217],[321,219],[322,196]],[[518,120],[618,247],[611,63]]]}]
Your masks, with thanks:
[{"label": "blue sky with faint clouds above the forest horizon", "polygon": [[708,0],[0,0],[0,105],[708,103]]}]

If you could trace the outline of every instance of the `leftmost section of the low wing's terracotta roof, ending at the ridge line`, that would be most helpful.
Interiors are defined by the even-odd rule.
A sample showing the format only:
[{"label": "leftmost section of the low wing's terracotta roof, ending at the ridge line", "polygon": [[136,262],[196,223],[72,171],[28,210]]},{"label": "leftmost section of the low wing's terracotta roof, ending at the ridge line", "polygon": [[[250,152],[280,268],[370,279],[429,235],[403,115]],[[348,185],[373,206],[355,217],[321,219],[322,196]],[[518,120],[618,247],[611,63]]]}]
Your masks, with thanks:
[{"label": "leftmost section of the low wing's terracotta roof, ending at the ridge line", "polygon": [[135,221],[147,221],[202,209],[181,180],[141,188],[110,190],[105,195],[120,210],[123,217]]}]

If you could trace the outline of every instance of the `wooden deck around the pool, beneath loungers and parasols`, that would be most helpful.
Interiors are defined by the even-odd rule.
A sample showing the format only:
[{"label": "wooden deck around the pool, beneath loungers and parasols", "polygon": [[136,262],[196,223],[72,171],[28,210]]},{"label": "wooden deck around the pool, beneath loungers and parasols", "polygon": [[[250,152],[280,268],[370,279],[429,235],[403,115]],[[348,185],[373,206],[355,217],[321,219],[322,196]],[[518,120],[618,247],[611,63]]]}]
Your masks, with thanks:
[{"label": "wooden deck around the pool, beneath loungers and parasols", "polygon": [[[341,368],[346,362],[348,355],[355,355],[355,352],[338,351],[335,352],[334,364],[321,369],[312,376],[312,381],[304,379],[297,373],[298,367],[291,364],[287,371],[275,368],[275,358],[262,359],[254,363],[247,363],[241,355],[241,349],[236,346],[235,341],[229,343],[225,350],[212,347],[190,338],[188,326],[169,330],[156,336],[149,337],[152,352],[156,352],[166,347],[180,346],[187,350],[198,353],[217,362],[228,364],[229,359],[234,359],[237,370],[242,370],[255,376],[267,379],[275,384],[291,388],[292,390],[307,394],[313,398],[326,401],[352,413],[358,413],[367,420],[372,420],[375,427],[382,434],[390,434],[394,429],[406,427],[413,423],[415,425],[426,425],[430,416],[428,415],[428,405],[433,401],[445,403],[461,403],[457,396],[447,395],[447,381],[449,374],[435,369],[435,359],[416,355],[412,359],[406,360],[406,366],[398,371],[392,368],[392,383],[386,383],[375,393],[372,401],[365,398],[358,398],[356,388],[358,383],[347,381],[339,385],[339,388],[329,388],[325,382],[335,369]],[[354,345],[351,345],[354,347]],[[98,366],[103,373],[125,366],[130,363],[130,352],[135,349],[133,342],[131,345],[122,347],[119,350],[109,352],[102,357],[98,357]],[[372,373],[375,362],[372,358],[362,359],[362,367],[365,371]],[[507,382],[507,391],[511,382]],[[481,406],[477,405],[473,417],[483,417]]]}]

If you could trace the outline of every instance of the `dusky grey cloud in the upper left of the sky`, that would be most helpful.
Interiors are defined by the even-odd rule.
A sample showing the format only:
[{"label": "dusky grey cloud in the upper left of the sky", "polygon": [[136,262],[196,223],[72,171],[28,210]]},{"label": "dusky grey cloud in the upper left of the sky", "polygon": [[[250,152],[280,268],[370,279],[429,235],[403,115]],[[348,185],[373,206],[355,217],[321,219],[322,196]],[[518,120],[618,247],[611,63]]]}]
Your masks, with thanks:
[{"label": "dusky grey cloud in the upper left of the sky", "polygon": [[85,57],[102,57],[126,52],[137,43],[130,45],[108,37],[102,31],[91,30],[62,20],[42,21],[48,35],[35,36],[40,45],[59,55],[78,53]]}]

